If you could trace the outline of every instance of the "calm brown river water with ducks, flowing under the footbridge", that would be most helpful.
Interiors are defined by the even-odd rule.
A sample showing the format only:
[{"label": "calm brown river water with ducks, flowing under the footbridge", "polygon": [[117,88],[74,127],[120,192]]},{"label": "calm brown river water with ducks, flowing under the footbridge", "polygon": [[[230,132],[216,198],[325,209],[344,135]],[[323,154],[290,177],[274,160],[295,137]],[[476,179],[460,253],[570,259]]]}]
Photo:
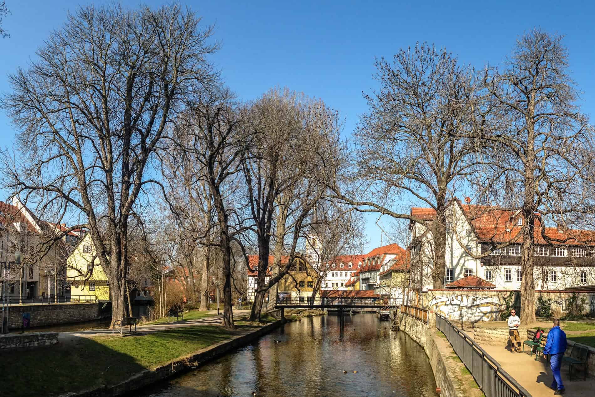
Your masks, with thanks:
[{"label": "calm brown river water with ducks, flowing under the footbridge", "polygon": [[[278,339],[280,342],[275,343]],[[343,370],[347,374],[343,374]],[[353,373],[358,371],[358,373]],[[303,318],[138,397],[436,396],[423,349],[374,314]]]}]

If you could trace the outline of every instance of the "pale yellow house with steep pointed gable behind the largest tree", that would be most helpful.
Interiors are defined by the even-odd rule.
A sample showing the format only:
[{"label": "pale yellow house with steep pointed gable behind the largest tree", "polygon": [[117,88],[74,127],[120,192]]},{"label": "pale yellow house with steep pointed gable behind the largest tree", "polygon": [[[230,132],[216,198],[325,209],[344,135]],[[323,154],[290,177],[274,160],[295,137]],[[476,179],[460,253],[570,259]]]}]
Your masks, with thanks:
[{"label": "pale yellow house with steep pointed gable behind the largest tree", "polygon": [[67,281],[71,284],[70,295],[73,301],[80,299],[97,299],[109,301],[109,282],[104,269],[95,258],[95,265],[92,274],[87,279],[87,272],[95,256],[95,247],[91,236],[87,233],[74,247],[73,252],[66,260]]}]

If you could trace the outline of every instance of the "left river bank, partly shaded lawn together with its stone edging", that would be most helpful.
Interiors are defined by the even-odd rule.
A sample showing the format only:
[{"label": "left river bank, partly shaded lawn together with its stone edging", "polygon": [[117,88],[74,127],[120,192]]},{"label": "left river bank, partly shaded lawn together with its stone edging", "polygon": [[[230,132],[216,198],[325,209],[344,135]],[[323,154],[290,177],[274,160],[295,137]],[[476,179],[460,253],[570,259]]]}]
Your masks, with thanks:
[{"label": "left river bank, partly shaded lawn together with its stone edging", "polygon": [[198,367],[280,325],[236,321],[237,330],[189,326],[133,336],[69,337],[59,345],[2,354],[2,392],[12,397],[117,396]]}]

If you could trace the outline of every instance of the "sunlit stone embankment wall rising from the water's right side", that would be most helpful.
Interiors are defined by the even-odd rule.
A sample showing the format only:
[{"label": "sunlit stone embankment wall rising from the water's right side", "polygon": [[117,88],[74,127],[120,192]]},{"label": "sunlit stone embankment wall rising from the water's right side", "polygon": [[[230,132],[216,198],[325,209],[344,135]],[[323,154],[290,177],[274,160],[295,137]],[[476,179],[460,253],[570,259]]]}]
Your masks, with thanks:
[{"label": "sunlit stone embankment wall rising from the water's right side", "polygon": [[[405,314],[399,314],[399,330],[409,335],[415,342],[424,348],[425,354],[430,360],[436,385],[441,389],[441,397],[465,396],[464,390],[458,390],[455,382],[456,373],[454,368],[447,367],[444,363],[444,351],[440,349],[436,341],[436,329],[428,327],[424,321]],[[460,376],[460,374],[459,374]]]}]

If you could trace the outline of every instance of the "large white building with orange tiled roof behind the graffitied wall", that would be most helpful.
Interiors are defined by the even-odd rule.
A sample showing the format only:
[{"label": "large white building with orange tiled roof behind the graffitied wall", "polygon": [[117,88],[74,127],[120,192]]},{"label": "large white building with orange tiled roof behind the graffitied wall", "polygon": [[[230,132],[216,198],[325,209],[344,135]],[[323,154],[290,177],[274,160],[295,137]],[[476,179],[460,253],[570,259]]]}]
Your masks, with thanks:
[{"label": "large white building with orange tiled roof behind the graffitied wall", "polygon": [[[436,216],[436,211],[431,208],[412,208],[411,214],[429,223]],[[449,283],[464,279],[465,276],[475,275],[493,284],[496,289],[521,288],[522,236],[519,232],[524,218],[520,211],[461,204],[458,199],[453,199],[447,205],[445,222],[444,284],[446,287],[449,287]],[[565,243],[553,240],[547,242],[541,236],[541,227],[538,219],[534,229],[533,252],[536,264],[533,277],[536,288],[556,290],[593,284],[595,282],[593,267],[595,232],[545,227],[544,234],[547,237],[565,241]],[[419,279],[422,279],[422,291],[425,291],[433,287],[433,280],[430,277],[433,270],[433,236],[422,224],[411,222],[410,230],[411,243],[408,249],[411,251],[412,263],[421,264],[422,268],[419,271],[421,276],[416,281],[419,282]],[[481,259],[470,255],[488,252],[494,246],[508,242],[513,243]],[[456,286],[461,287],[462,284],[458,283]]]}]

